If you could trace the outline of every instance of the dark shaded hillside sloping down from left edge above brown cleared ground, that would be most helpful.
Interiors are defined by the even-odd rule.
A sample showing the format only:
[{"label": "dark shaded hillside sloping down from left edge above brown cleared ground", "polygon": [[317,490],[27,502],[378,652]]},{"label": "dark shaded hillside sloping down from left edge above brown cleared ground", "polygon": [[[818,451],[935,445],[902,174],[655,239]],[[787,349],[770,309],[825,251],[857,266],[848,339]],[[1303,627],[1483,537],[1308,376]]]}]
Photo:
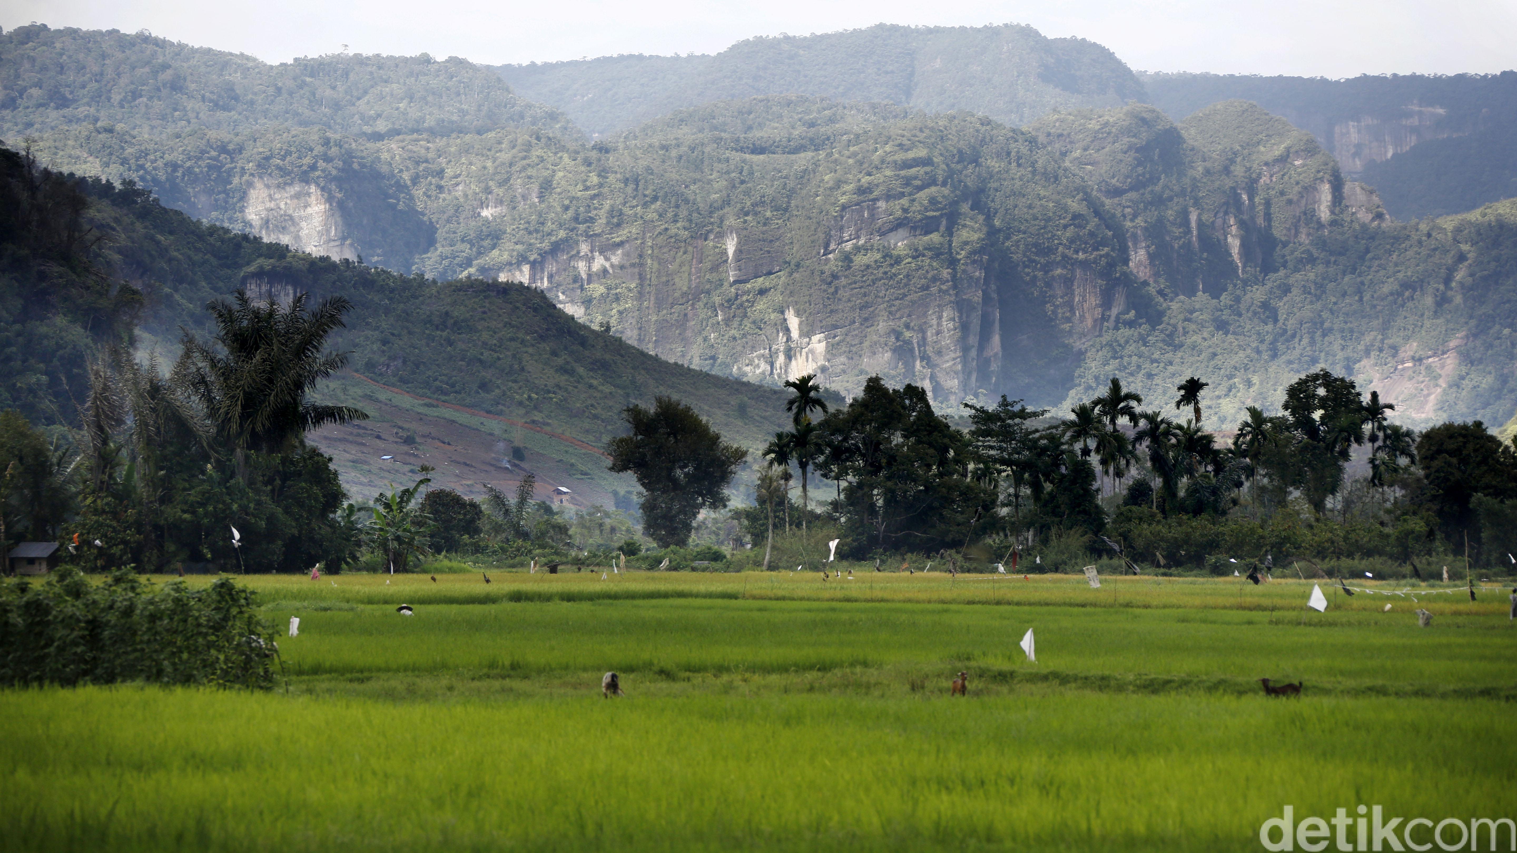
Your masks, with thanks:
[{"label": "dark shaded hillside sloping down from left edge above brown cleared ground", "polygon": [[100,346],[146,332],[173,351],[182,328],[205,331],[206,302],[238,288],[346,296],[353,308],[332,343],[355,370],[596,446],[619,434],[623,407],[660,393],[752,446],[784,417],[780,392],[658,360],[519,284],[316,258],[199,223],[133,187],[32,168],[17,152],[0,149],[0,408],[38,423],[74,417]]}]

